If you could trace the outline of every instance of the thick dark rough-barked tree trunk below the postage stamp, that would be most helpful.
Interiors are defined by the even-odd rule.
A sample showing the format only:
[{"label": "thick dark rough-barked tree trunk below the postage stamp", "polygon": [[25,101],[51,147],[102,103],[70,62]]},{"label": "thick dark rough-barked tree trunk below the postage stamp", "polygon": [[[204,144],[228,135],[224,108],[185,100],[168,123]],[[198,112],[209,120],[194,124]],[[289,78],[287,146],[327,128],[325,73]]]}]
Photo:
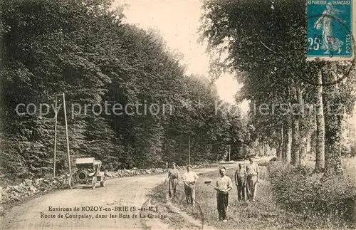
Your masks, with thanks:
[{"label": "thick dark rough-barked tree trunk below the postage stamp", "polygon": [[[333,78],[332,72],[326,73],[328,78]],[[341,167],[341,120],[343,108],[340,100],[340,91],[337,84],[323,87],[323,105],[325,116],[325,170],[324,177],[342,174]]]}]

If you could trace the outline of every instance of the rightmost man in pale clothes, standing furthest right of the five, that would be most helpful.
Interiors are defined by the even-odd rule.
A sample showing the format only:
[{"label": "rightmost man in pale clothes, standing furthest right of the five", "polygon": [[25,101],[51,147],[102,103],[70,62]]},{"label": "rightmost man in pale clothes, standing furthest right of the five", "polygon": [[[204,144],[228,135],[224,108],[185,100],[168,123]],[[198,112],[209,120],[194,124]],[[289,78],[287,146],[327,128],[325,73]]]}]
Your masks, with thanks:
[{"label": "rightmost man in pale clothes, standing furthest right of the five", "polygon": [[250,157],[250,164],[246,166],[247,173],[247,199],[248,201],[255,201],[257,183],[260,179],[260,168],[258,164],[253,162],[253,158]]}]

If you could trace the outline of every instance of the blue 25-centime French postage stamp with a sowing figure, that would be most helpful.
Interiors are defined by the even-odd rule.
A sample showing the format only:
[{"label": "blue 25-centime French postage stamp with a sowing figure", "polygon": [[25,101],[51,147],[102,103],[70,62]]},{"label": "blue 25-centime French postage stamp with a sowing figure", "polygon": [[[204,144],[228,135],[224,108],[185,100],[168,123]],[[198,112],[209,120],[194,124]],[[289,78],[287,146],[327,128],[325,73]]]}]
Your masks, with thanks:
[{"label": "blue 25-centime French postage stamp with a sowing figure", "polygon": [[354,5],[352,0],[307,1],[307,61],[353,58]]}]

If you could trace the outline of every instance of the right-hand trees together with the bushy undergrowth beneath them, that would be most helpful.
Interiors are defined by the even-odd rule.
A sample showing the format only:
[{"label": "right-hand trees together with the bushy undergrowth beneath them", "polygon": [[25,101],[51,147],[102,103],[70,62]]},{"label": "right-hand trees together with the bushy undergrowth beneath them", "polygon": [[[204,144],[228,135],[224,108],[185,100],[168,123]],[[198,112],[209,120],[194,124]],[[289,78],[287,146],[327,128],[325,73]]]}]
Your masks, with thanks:
[{"label": "right-hand trees together with the bushy undergrowth beneath them", "polygon": [[219,54],[211,73],[232,70],[244,85],[236,100],[251,102],[251,142],[277,150],[277,202],[330,229],[354,228],[355,169],[342,167],[342,154],[354,151],[355,60],[306,61],[306,4],[206,0],[201,37]]}]

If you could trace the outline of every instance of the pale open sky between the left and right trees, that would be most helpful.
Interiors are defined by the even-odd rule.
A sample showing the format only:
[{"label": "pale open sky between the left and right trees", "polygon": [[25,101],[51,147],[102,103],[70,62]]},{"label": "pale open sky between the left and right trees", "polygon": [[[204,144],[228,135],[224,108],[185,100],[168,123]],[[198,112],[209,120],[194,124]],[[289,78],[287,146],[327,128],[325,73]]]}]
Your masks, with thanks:
[{"label": "pale open sky between the left and right trees", "polygon": [[[140,28],[155,28],[172,50],[184,55],[182,63],[187,74],[197,73],[209,76],[209,55],[197,40],[200,26],[201,2],[199,0],[117,0],[118,4],[130,5],[125,9],[125,22],[137,24]],[[216,80],[220,98],[235,104],[234,95],[241,85],[224,74]]]}]

